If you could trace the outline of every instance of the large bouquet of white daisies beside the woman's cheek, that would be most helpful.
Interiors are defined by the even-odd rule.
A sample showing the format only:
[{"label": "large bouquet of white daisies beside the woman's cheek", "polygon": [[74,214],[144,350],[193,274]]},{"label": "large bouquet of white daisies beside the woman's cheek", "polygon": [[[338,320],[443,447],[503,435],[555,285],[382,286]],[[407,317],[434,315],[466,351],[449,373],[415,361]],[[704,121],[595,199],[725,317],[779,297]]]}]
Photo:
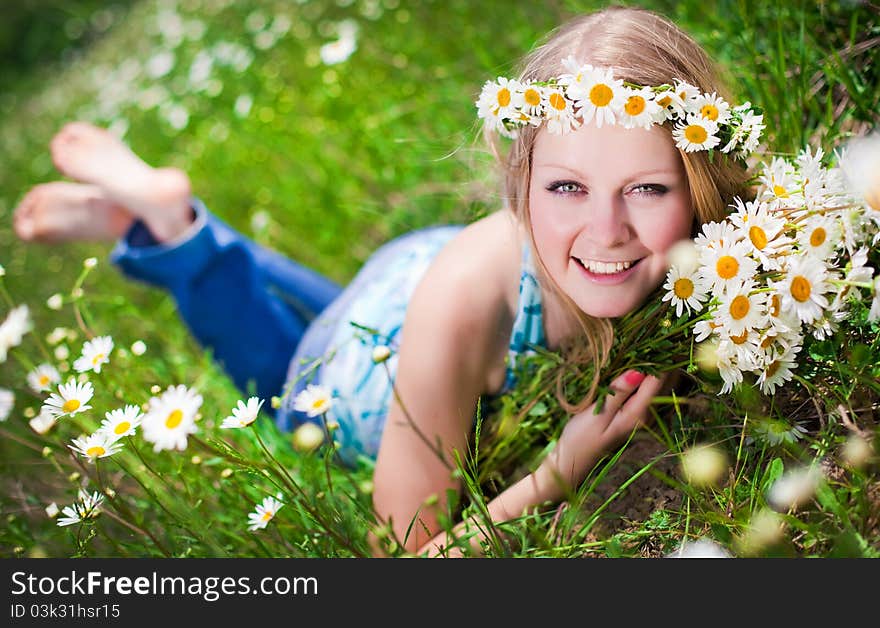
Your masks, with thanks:
[{"label": "large bouquet of white daisies beside the woman's cheek", "polygon": [[805,338],[830,338],[860,306],[867,322],[880,319],[880,211],[859,198],[848,157],[833,168],[821,149],[774,158],[754,201],[735,199],[673,256],[663,301],[709,343],[722,394],[744,373],[773,394],[792,379]]}]

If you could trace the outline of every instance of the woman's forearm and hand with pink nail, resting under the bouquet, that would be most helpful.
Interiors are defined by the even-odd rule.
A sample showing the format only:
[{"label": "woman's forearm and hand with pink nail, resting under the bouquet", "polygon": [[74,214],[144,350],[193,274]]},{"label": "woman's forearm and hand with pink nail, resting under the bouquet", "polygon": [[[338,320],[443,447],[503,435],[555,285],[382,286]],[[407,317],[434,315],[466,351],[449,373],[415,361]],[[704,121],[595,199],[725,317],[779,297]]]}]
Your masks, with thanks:
[{"label": "woman's forearm and hand with pink nail, resting under the bouquet", "polygon": [[[587,473],[605,450],[619,442],[645,422],[648,406],[659,392],[662,381],[630,371],[615,380],[613,395],[606,398],[601,412],[596,404],[574,415],[566,424],[556,447],[538,469],[507,488],[488,504],[491,520],[495,523],[519,517],[529,508],[544,502],[559,501],[566,492],[583,482]],[[478,530],[470,526],[470,532]],[[459,524],[456,533],[465,531],[467,523]],[[483,534],[477,531],[470,538],[471,547],[479,551]],[[444,553],[453,539],[441,533],[422,546],[419,553],[429,556]],[[447,555],[459,555],[453,550]]]}]

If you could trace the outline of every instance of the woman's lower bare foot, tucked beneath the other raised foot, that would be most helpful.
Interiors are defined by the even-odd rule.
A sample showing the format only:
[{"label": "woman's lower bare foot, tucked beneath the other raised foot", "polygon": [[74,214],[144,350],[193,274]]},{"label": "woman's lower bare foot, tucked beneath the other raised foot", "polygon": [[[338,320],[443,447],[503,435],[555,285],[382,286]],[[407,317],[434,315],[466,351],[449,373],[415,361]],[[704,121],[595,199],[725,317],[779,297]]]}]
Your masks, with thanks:
[{"label": "woman's lower bare foot, tucked beneath the other raised foot", "polygon": [[120,238],[134,217],[101,188],[55,181],[34,186],[15,208],[13,228],[25,241],[105,241]]}]

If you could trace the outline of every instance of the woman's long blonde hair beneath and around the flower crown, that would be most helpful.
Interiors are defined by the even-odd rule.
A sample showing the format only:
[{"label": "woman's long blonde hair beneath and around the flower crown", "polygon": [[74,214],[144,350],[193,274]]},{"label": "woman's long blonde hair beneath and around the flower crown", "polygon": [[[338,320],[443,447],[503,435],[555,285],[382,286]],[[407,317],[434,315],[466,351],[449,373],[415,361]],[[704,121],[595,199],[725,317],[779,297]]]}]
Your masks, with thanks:
[{"label": "woman's long blonde hair beneath and around the flower crown", "polygon": [[[717,70],[706,52],[690,36],[665,17],[645,9],[613,6],[597,13],[578,16],[551,31],[521,64],[519,80],[544,81],[565,72],[562,60],[569,55],[578,63],[609,67],[614,75],[640,85],[672,84],[686,81],[703,92],[717,92],[730,100]],[[671,129],[664,126],[670,133]],[[497,134],[486,129],[490,147],[503,170],[505,198],[509,208],[526,228],[533,259],[541,282],[565,305],[583,334],[568,339],[563,347],[565,367],[580,370],[595,365],[592,384],[583,399],[571,403],[565,395],[564,376],[556,377],[556,396],[568,412],[579,412],[595,398],[601,367],[606,363],[614,340],[608,319],[585,314],[552,280],[535,247],[529,210],[532,149],[539,128],[524,127],[506,154],[499,147]],[[679,150],[687,175],[694,208],[694,231],[702,223],[719,221],[734,196],[746,194],[746,169],[721,155],[710,159],[706,151]]]}]

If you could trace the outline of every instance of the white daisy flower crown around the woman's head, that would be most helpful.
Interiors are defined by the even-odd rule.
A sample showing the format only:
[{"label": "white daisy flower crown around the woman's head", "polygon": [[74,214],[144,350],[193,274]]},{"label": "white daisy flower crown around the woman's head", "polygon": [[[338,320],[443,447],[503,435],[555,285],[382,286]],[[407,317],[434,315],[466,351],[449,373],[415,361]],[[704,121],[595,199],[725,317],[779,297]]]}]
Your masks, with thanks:
[{"label": "white daisy flower crown around the woman's head", "polygon": [[610,68],[579,64],[573,57],[562,64],[567,72],[547,81],[486,81],[477,115],[511,138],[519,128],[544,121],[553,134],[569,133],[591,120],[597,127],[644,129],[669,121],[676,146],[685,152],[718,148],[745,158],[758,146],[764,116],[751,103],[731,107],[714,92],[701,93],[679,80],[674,85],[636,85],[615,78]]}]

